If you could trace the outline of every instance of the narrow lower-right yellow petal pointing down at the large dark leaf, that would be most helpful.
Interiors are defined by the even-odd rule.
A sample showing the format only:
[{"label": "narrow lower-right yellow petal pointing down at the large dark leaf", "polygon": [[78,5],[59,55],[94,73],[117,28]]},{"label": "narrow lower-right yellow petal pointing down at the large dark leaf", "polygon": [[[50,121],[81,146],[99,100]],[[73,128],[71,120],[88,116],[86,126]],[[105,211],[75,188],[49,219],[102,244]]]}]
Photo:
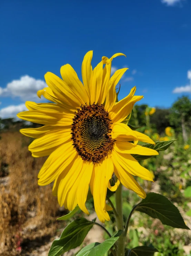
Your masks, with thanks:
[{"label": "narrow lower-right yellow petal pointing down at the large dark leaf", "polygon": [[114,173],[123,186],[137,193],[141,198],[145,198],[146,194],[142,187],[136,182],[133,176],[128,173],[117,161],[114,161]]}]

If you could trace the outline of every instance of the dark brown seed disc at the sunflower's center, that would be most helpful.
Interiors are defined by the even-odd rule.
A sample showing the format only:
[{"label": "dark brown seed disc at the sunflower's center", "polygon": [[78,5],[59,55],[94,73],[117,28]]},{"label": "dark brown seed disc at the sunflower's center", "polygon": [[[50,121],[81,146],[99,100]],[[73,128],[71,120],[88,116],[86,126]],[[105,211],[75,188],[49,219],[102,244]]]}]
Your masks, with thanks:
[{"label": "dark brown seed disc at the sunflower's center", "polygon": [[73,118],[73,146],[83,160],[94,164],[112,150],[111,120],[103,105],[83,105]]}]

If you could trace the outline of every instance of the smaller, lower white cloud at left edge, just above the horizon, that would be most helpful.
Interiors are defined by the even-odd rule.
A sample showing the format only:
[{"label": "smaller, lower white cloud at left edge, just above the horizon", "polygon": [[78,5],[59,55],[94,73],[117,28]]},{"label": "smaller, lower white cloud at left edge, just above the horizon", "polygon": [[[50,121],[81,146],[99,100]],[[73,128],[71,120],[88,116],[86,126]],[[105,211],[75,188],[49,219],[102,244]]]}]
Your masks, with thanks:
[{"label": "smaller, lower white cloud at left edge, just above the horizon", "polygon": [[[17,113],[26,111],[27,107],[25,104],[20,104],[17,106],[10,105],[8,107],[4,107],[0,109],[0,118],[9,118],[9,117],[14,117],[17,118]],[[18,119],[18,118],[17,118]]]}]

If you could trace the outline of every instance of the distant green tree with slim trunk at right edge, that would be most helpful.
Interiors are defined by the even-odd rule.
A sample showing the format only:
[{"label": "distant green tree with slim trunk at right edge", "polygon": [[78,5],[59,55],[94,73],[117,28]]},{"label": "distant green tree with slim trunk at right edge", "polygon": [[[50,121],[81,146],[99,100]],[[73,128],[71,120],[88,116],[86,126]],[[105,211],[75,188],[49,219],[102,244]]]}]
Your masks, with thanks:
[{"label": "distant green tree with slim trunk at right edge", "polygon": [[191,126],[191,101],[187,96],[178,98],[172,105],[170,112],[170,123],[182,129],[184,142],[188,140],[187,127]]}]

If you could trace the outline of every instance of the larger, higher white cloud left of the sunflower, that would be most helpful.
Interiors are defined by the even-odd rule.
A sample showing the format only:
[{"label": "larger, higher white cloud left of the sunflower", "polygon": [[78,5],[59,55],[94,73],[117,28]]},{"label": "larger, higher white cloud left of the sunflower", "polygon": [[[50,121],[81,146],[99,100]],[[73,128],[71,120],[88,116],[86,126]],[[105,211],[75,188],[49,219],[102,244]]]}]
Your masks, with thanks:
[{"label": "larger, higher white cloud left of the sunflower", "polygon": [[0,96],[20,97],[21,100],[39,100],[37,91],[47,87],[47,84],[28,75],[22,76],[19,80],[8,83],[6,88],[0,87]]}]

